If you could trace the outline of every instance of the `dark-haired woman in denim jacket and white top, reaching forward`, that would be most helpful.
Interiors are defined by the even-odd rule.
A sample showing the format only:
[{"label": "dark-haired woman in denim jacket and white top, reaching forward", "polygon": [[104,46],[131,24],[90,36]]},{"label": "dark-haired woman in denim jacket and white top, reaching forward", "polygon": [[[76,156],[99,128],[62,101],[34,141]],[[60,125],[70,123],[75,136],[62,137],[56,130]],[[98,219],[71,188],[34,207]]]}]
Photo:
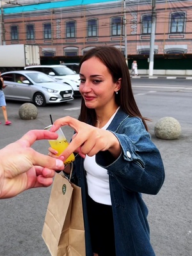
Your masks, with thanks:
[{"label": "dark-haired woman in denim jacket and white top, reaching forward", "polygon": [[82,189],[86,256],[155,255],[141,193],[158,193],[164,167],[134,100],[124,56],[115,47],[95,47],[79,68],[79,120],[60,118],[52,131],[62,125],[75,130],[62,155],[79,154],[72,182]]}]

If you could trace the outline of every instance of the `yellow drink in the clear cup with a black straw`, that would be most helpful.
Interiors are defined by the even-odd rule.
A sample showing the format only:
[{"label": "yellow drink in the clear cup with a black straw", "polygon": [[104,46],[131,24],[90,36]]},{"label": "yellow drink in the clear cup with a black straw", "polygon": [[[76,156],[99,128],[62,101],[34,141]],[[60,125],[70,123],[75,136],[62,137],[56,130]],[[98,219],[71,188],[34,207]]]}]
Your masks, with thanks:
[{"label": "yellow drink in the clear cup with a black straw", "polygon": [[[58,151],[57,156],[60,156],[60,154],[65,150],[65,148],[68,147],[68,142],[67,140],[49,140],[49,143],[51,147],[54,150]],[[64,164],[70,164],[75,160],[75,156],[72,153],[65,161]]]}]

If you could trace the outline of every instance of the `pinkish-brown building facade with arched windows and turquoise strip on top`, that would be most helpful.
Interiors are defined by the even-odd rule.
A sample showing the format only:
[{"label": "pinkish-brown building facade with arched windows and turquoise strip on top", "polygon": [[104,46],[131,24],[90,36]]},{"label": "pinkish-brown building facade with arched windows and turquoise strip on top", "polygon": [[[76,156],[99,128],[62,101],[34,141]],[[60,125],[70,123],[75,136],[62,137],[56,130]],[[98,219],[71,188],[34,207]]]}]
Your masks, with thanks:
[{"label": "pinkish-brown building facade with arched windows and turquoise strip on top", "polygon": [[191,59],[192,1],[155,3],[152,13],[152,0],[10,1],[1,8],[1,38],[6,45],[39,45],[42,59],[77,58],[114,45],[129,60],[146,63],[155,19],[155,58]]}]

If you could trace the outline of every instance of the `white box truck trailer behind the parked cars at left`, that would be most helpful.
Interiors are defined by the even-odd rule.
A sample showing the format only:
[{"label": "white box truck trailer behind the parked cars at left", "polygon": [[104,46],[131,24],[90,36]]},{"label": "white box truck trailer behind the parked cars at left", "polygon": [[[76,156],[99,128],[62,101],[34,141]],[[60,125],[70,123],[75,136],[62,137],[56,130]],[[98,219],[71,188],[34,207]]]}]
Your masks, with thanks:
[{"label": "white box truck trailer behind the parked cars at left", "polygon": [[29,65],[40,65],[38,45],[0,45],[1,72],[22,70]]}]

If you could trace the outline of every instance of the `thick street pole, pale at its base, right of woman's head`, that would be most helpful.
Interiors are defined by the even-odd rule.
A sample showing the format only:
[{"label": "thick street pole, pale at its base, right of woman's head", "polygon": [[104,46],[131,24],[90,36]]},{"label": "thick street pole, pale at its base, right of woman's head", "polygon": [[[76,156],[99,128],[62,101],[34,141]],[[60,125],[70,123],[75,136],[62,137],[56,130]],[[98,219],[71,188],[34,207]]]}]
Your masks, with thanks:
[{"label": "thick street pole, pale at its base, right of woman's head", "polygon": [[156,0],[152,0],[152,24],[150,33],[149,76],[154,74],[154,43],[156,33]]}]

